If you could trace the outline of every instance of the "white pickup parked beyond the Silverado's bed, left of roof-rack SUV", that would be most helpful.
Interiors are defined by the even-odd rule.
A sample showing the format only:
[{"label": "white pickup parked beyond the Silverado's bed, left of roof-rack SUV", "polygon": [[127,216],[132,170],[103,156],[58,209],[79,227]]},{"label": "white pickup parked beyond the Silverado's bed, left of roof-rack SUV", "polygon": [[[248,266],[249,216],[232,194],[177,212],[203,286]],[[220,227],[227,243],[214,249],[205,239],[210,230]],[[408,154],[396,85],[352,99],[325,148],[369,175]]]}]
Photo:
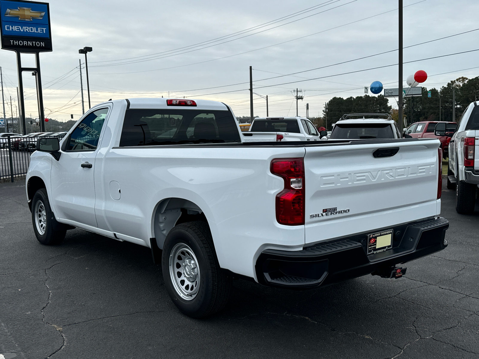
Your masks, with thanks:
[{"label": "white pickup parked beyond the Silverado's bed, left of roof-rack SUV", "polygon": [[303,117],[257,117],[242,135],[244,142],[318,141],[322,132]]}]

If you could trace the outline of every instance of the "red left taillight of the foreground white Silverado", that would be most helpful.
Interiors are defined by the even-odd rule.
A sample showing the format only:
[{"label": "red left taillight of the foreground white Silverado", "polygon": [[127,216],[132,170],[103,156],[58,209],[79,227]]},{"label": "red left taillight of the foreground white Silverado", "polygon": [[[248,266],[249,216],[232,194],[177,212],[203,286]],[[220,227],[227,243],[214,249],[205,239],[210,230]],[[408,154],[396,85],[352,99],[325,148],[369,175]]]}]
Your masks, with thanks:
[{"label": "red left taillight of the foreground white Silverado", "polygon": [[276,195],[276,220],[285,225],[304,224],[303,158],[274,159],[271,173],[285,180],[285,189]]}]

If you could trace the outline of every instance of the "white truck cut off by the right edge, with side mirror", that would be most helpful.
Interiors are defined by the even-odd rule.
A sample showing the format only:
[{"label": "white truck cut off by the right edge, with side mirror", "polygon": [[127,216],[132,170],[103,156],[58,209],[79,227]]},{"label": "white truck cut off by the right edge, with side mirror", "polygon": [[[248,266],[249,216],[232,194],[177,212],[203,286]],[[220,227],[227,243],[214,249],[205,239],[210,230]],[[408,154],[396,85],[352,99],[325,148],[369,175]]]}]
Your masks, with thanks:
[{"label": "white truck cut off by the right edge, with side mirror", "polygon": [[[436,126],[436,135],[444,135],[445,131],[445,123]],[[479,103],[472,102],[459,119],[456,133],[449,142],[447,188],[450,190],[456,188],[457,213],[474,212],[478,185]]]}]

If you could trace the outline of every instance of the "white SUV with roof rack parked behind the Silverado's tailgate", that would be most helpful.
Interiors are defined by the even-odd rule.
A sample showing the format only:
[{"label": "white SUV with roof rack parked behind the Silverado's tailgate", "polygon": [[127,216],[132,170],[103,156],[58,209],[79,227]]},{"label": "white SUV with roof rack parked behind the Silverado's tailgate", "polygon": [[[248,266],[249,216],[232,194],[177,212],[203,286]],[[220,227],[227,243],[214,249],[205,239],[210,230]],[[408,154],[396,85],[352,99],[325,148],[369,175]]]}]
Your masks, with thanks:
[{"label": "white SUV with roof rack parked behind the Silverado's tailgate", "polygon": [[401,138],[398,125],[388,113],[350,113],[334,123],[330,140]]}]

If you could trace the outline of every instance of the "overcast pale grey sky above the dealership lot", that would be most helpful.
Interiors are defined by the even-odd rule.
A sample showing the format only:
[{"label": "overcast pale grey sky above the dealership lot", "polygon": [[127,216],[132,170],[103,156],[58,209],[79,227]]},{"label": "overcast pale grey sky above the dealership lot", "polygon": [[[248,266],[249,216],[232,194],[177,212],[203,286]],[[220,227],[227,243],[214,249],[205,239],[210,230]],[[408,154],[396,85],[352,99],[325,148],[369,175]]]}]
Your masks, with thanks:
[{"label": "overcast pale grey sky above the dealership lot", "polygon": [[[361,96],[375,80],[397,87],[398,66],[331,75],[397,64],[398,52],[277,76],[397,50],[397,5],[396,0],[50,1],[53,52],[40,55],[46,116],[81,115],[78,66],[84,56],[78,49],[84,46],[93,48],[92,105],[170,93],[224,101],[237,116],[249,116],[252,66],[253,92],[268,95],[270,116],[296,114],[291,94],[296,88],[305,91],[299,114],[306,114],[309,103],[310,116],[317,116],[331,97]],[[404,0],[404,6],[404,46],[479,28],[477,0]],[[478,38],[474,31],[407,48],[404,62],[475,50]],[[429,75],[423,86],[440,88],[459,76],[478,76],[478,58],[479,51],[405,64],[404,79],[423,69]],[[17,86],[14,52],[1,50],[0,66],[10,101]],[[314,79],[319,77],[327,78]],[[27,116],[37,117],[34,77],[24,73],[23,79]],[[83,84],[87,109],[84,73]],[[10,109],[6,112],[10,117]],[[266,114],[265,100],[257,95],[254,114]]]}]

